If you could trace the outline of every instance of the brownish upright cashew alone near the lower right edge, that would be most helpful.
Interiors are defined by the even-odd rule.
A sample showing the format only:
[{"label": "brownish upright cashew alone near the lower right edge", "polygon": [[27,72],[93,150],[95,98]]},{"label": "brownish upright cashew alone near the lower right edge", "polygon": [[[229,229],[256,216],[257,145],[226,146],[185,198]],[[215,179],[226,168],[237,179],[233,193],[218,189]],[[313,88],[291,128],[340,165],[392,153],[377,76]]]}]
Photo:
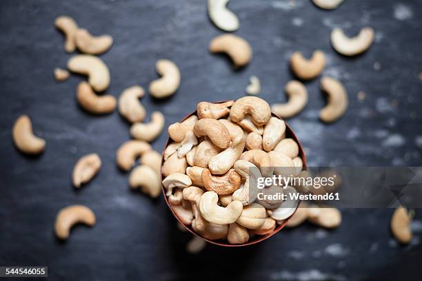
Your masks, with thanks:
[{"label": "brownish upright cashew alone near the lower right edge", "polygon": [[398,207],[392,215],[390,226],[391,231],[399,242],[407,244],[412,240],[412,229],[410,229],[410,221],[412,217],[403,207]]}]

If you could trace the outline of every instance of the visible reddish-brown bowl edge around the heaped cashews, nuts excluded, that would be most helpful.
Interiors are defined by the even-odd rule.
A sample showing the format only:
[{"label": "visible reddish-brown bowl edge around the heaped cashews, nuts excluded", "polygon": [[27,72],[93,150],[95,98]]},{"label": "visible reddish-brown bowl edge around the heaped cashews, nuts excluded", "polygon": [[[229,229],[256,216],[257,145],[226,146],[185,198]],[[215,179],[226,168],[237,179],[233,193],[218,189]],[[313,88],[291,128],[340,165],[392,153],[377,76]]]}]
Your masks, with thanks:
[{"label": "visible reddish-brown bowl edge around the heaped cashews, nuts excluded", "polygon": [[[217,103],[225,103],[227,101],[218,101]],[[196,115],[197,111],[191,112],[190,114],[188,114],[187,116],[185,116],[185,118],[182,119],[182,121],[184,121],[186,118],[192,116],[192,115]],[[279,116],[277,116],[277,114],[275,114],[274,112],[272,112],[272,116],[275,116],[277,118],[280,118]],[[280,118],[281,119],[281,118]],[[290,128],[290,126],[288,125],[288,123],[285,123],[285,137],[286,138],[293,138],[294,141],[297,142],[297,144],[299,145],[299,156],[301,156],[302,161],[303,161],[303,167],[307,167],[307,163],[306,163],[306,156],[305,153],[303,152],[303,147],[301,145],[301,143],[299,142],[299,139],[297,138],[297,136],[294,134],[294,132],[292,131],[292,129]],[[165,143],[165,147],[163,149],[163,156],[164,156],[164,150],[165,148],[170,145],[170,143],[172,143],[173,141],[168,138],[167,142]],[[161,167],[163,166],[163,162],[164,159],[161,158]],[[161,178],[163,178],[163,175],[161,174]],[[223,241],[223,240],[208,240],[203,238],[202,236],[200,236],[198,233],[196,233],[195,231],[193,231],[193,229],[191,227],[188,227],[187,225],[184,225],[183,222],[181,222],[181,220],[176,216],[176,213],[174,213],[172,207],[170,206],[170,203],[168,202],[168,198],[167,196],[165,196],[165,188],[161,185],[161,190],[163,191],[163,197],[165,202],[167,203],[168,208],[170,209],[170,211],[172,211],[172,214],[174,216],[174,218],[176,218],[181,225],[183,225],[183,227],[185,227],[185,229],[187,231],[189,231],[190,233],[192,233],[195,236],[198,236],[200,238],[202,238],[203,240],[211,243],[211,244],[216,244],[219,246],[223,246],[223,247],[243,247],[243,246],[248,246],[248,245],[252,245],[252,244],[257,244],[258,242],[261,242],[263,240],[266,240],[268,238],[270,238],[271,236],[273,236],[275,233],[279,232],[281,229],[283,229],[285,227],[285,225],[287,224],[288,220],[290,220],[290,218],[293,216],[290,216],[290,218],[284,220],[284,222],[281,225],[278,225],[271,233],[268,233],[267,235],[263,235],[263,236],[256,236],[257,238],[254,240],[250,240],[245,244],[230,244],[228,241]]]}]

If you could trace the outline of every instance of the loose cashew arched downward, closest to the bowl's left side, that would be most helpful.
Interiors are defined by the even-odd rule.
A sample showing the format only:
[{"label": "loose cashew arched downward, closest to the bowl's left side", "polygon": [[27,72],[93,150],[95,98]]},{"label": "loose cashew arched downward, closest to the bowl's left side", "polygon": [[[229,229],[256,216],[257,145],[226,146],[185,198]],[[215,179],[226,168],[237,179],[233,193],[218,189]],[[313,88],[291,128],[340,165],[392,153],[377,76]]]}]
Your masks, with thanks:
[{"label": "loose cashew arched downward, closest to the bowl's left side", "polygon": [[161,193],[161,179],[157,171],[147,165],[139,165],[133,169],[129,177],[132,189],[140,188],[144,194],[157,198]]}]

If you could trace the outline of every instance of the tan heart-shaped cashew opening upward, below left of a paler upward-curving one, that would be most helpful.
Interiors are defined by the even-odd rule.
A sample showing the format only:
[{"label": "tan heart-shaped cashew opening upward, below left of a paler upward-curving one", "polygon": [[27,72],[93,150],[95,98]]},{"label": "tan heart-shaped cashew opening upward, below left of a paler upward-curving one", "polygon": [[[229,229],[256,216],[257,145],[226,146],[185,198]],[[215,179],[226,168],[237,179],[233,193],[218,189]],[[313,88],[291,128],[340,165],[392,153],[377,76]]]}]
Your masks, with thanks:
[{"label": "tan heart-shaped cashew opening upward, below left of a paler upward-curving one", "polygon": [[321,74],[325,66],[324,52],[316,50],[311,59],[305,59],[301,52],[294,52],[290,57],[290,66],[300,79],[310,80]]}]

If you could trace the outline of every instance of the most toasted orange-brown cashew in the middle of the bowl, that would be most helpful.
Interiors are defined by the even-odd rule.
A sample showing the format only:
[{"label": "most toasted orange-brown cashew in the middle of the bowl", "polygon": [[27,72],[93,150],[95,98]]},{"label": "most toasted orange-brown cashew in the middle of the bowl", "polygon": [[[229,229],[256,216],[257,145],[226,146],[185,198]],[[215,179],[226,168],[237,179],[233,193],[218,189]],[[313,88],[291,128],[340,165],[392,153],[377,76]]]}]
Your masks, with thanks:
[{"label": "most toasted orange-brown cashew in the middle of the bowl", "polygon": [[202,182],[208,191],[214,191],[218,195],[228,195],[239,189],[241,176],[234,169],[221,176],[213,176],[209,169],[203,169]]}]

